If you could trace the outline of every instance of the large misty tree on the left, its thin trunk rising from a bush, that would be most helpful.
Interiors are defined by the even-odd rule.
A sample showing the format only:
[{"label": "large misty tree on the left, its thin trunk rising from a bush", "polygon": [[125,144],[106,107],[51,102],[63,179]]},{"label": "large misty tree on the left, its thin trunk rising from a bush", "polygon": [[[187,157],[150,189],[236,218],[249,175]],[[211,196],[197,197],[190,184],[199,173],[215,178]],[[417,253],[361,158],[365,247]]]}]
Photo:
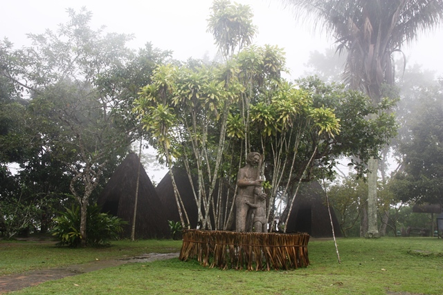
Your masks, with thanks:
[{"label": "large misty tree on the left, its thin trunk rising from a bush", "polygon": [[[33,123],[28,133],[32,137],[27,137],[34,139],[32,144],[21,141],[32,151],[21,160],[26,175],[22,180],[44,184],[37,175],[44,178],[45,169],[52,169],[53,178],[41,191],[53,193],[60,177],[70,178],[67,187],[80,204],[85,245],[90,198],[101,176],[109,176],[138,133],[132,103],[139,88],[150,83],[152,69],[170,53],[151,44],[135,52],[125,46],[132,36],[92,30],[87,10],[67,12],[70,19],[57,32],[29,34],[30,47],[15,50],[1,43],[0,68],[2,79],[26,97],[25,114]],[[8,136],[13,134],[24,133],[8,131]],[[33,171],[37,167],[38,173]]]}]

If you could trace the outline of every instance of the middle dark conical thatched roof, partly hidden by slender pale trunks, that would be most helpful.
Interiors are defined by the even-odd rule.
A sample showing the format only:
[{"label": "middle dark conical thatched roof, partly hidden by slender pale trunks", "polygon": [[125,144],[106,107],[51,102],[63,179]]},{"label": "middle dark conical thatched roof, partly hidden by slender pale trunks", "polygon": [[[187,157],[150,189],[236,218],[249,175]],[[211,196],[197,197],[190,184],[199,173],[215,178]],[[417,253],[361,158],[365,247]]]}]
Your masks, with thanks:
[{"label": "middle dark conical thatched roof, partly hidden by slender pale trunks", "polygon": [[[179,189],[181,200],[183,200],[186,212],[188,212],[190,226],[192,229],[195,229],[198,221],[197,204],[195,203],[188,174],[183,169],[176,167],[172,169],[172,173],[174,173],[174,180],[177,184],[177,189]],[[177,209],[174,188],[172,187],[172,180],[169,173],[166,173],[161,182],[157,184],[156,193],[165,208],[165,211],[163,211],[165,218],[176,222],[180,221],[179,209]],[[184,216],[183,219],[185,219]]]}]

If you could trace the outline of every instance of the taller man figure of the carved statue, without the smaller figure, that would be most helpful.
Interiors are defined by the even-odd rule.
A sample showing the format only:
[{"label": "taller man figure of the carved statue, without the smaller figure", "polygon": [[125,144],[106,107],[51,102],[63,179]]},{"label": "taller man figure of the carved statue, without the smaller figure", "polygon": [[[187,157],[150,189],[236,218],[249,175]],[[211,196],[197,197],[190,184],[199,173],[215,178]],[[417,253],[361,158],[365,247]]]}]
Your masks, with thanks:
[{"label": "taller man figure of the carved statue, without the smaller figure", "polygon": [[246,231],[246,220],[251,215],[254,196],[262,192],[260,180],[260,153],[251,152],[246,157],[246,166],[237,174],[238,193],[235,198],[235,230]]}]

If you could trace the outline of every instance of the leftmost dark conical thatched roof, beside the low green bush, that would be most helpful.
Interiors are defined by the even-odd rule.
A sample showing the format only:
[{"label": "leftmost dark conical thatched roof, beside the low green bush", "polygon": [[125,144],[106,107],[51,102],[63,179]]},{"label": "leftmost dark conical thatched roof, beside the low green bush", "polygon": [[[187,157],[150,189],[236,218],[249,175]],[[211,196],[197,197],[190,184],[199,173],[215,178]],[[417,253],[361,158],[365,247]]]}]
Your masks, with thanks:
[{"label": "leftmost dark conical thatched roof, beside the low green bush", "polygon": [[109,212],[129,222],[125,226],[123,236],[130,238],[134,218],[137,168],[140,166],[135,238],[168,238],[170,230],[163,213],[163,204],[145,169],[139,163],[138,156],[129,153],[109,179],[97,202],[102,206],[103,212]]}]

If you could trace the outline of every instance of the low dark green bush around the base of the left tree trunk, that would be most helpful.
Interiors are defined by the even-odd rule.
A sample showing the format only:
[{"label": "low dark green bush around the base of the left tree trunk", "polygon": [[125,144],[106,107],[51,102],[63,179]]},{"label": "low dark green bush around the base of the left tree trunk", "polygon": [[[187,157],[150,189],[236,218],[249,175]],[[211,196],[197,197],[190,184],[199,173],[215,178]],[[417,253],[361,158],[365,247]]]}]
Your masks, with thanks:
[{"label": "low dark green bush around the base of the left tree trunk", "polygon": [[[55,226],[51,229],[53,236],[60,242],[58,245],[78,247],[82,241],[80,234],[80,207],[73,206],[71,209],[60,212],[60,216],[53,218]],[[127,222],[107,213],[100,213],[97,204],[87,209],[87,245],[103,246],[109,245],[109,240],[116,240],[123,231],[123,225]]]}]

